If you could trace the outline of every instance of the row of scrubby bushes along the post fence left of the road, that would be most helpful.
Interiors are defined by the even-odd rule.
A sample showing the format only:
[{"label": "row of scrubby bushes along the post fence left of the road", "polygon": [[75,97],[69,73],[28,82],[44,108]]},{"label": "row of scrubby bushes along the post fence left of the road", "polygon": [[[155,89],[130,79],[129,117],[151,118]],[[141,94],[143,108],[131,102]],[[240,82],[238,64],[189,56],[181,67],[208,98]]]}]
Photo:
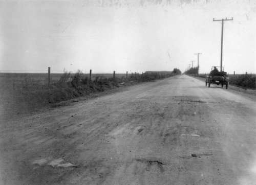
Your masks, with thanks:
[{"label": "row of scrubby bushes along the post fence left of the road", "polygon": [[177,69],[173,72],[146,72],[128,74],[83,74],[77,71],[75,74],[64,72],[58,80],[51,78],[51,68],[48,68],[48,102],[56,103],[75,97],[101,92],[119,86],[132,85],[146,81],[153,81],[174,75],[178,75]]}]

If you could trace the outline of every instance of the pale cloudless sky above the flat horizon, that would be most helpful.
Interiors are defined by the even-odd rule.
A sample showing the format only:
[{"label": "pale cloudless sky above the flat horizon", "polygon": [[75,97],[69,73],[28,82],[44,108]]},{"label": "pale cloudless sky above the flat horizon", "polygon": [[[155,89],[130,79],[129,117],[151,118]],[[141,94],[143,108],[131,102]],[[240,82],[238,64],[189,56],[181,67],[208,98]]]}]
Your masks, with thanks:
[{"label": "pale cloudless sky above the flat horizon", "polygon": [[253,0],[0,1],[0,72],[256,73]]}]

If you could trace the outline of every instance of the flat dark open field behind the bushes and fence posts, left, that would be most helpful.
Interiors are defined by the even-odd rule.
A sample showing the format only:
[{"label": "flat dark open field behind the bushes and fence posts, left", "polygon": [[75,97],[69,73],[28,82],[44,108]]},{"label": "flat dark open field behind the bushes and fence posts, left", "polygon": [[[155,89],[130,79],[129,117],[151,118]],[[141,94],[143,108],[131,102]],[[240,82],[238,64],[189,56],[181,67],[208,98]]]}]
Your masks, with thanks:
[{"label": "flat dark open field behind the bushes and fence posts, left", "polygon": [[[71,74],[67,81],[72,81]],[[82,78],[89,74],[81,74]],[[128,74],[130,78],[133,74]],[[63,73],[50,74],[50,86],[48,85],[48,73],[0,73],[0,111],[2,118],[11,118],[19,114],[37,111],[40,108],[49,107],[49,99],[58,96],[60,100],[67,99],[67,86],[56,87]],[[92,80],[97,77],[113,78],[113,74],[92,74]],[[116,79],[125,80],[126,74],[115,74]],[[65,91],[66,90],[66,91]],[[68,89],[72,95],[72,89]],[[70,95],[71,94],[71,95]],[[65,96],[64,96],[65,95]],[[77,95],[78,96],[78,95]],[[58,100],[59,101],[59,100]]]}]

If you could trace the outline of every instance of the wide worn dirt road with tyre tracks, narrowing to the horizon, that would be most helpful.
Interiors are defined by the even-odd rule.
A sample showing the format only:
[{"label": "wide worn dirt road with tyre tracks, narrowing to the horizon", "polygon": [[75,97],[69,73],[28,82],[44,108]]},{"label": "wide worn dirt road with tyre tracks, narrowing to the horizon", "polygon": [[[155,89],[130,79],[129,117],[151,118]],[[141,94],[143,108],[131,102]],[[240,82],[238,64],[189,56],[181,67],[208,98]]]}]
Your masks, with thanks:
[{"label": "wide worn dirt road with tyre tracks, narrowing to the horizon", "polygon": [[2,184],[255,184],[255,101],[185,75],[1,123]]}]

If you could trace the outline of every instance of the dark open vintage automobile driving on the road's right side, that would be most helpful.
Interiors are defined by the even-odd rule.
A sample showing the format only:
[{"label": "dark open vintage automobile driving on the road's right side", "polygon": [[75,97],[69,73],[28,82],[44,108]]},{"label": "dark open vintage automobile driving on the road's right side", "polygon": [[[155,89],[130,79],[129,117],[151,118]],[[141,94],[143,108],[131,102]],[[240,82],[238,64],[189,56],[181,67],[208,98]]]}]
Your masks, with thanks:
[{"label": "dark open vintage automobile driving on the road's right side", "polygon": [[205,79],[205,86],[207,86],[208,83],[208,87],[210,87],[211,83],[215,83],[217,85],[221,84],[221,87],[223,87],[223,85],[226,85],[226,89],[228,88],[228,83],[229,83],[229,78],[227,77],[227,72],[224,72],[224,68],[222,67],[222,71],[220,71],[220,66],[212,66],[211,67],[211,72],[209,74],[209,76],[206,76]]}]

